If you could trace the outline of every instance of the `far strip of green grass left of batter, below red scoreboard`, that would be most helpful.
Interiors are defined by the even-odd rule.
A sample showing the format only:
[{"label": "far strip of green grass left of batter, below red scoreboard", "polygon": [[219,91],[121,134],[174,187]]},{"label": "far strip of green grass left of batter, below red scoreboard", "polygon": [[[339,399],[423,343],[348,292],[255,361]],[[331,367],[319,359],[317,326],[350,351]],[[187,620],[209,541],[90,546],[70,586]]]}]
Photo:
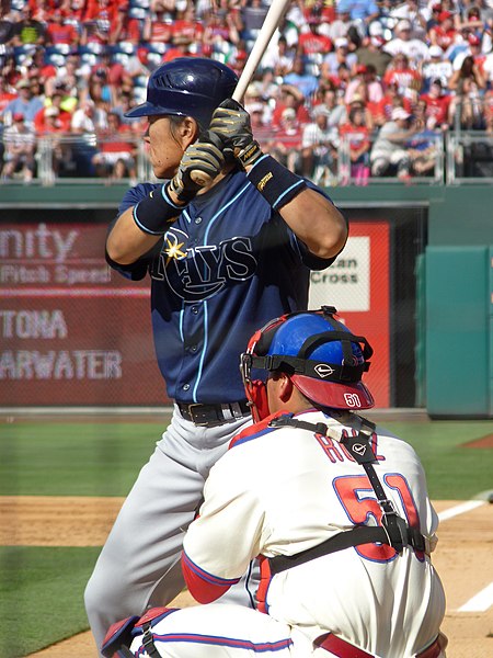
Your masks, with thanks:
[{"label": "far strip of green grass left of batter, below red scoreboard", "polygon": [[0,496],[125,496],[168,420],[1,424]]}]

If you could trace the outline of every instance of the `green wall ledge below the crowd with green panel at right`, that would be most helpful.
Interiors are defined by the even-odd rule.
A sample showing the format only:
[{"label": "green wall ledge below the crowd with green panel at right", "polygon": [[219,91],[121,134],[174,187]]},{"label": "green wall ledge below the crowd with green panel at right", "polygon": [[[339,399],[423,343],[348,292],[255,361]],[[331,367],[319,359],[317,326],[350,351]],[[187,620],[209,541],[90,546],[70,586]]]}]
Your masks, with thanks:
[{"label": "green wall ledge below the crowd with green panel at right", "polygon": [[[0,218],[8,217],[9,207],[116,211],[126,190],[121,184],[0,186]],[[328,192],[343,209],[426,208],[427,249],[421,262],[416,304],[421,309],[420,315],[416,310],[416,400],[425,404],[432,416],[491,417],[493,252],[488,248],[493,246],[493,186],[395,183],[331,188]],[[452,330],[448,332],[449,325]]]}]

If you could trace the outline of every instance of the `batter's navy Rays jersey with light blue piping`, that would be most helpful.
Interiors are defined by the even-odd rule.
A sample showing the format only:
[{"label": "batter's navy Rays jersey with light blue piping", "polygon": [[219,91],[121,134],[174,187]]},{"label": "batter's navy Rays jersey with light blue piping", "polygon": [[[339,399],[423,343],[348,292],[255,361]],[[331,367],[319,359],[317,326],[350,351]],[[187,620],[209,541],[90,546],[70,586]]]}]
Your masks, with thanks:
[{"label": "batter's navy Rays jersey with light blue piping", "polygon": [[[156,186],[129,190],[119,214]],[[116,269],[134,280],[151,276],[153,338],[168,395],[217,404],[244,399],[239,356],[250,337],[271,318],[307,308],[310,269],[333,260],[311,254],[236,171],[186,206],[152,252]]]}]

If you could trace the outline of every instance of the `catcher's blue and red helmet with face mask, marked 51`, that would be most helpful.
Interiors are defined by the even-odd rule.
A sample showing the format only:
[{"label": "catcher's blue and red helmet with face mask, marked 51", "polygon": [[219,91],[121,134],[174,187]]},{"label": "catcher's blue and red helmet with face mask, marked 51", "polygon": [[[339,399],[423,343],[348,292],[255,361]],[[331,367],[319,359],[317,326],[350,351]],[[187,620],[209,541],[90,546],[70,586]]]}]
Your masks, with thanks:
[{"label": "catcher's blue and red helmet with face mask, marked 51", "polygon": [[318,406],[352,410],[374,406],[360,381],[372,349],[364,337],[339,322],[335,314],[335,308],[323,306],[285,315],[252,336],[240,367],[255,422],[271,412],[266,381],[273,371],[286,373]]}]

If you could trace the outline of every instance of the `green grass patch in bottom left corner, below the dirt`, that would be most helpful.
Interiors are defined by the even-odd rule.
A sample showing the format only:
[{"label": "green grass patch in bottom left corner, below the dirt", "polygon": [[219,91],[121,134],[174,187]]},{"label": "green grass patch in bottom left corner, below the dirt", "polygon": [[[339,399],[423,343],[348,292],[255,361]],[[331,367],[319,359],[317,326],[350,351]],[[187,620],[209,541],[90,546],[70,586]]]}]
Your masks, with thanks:
[{"label": "green grass patch in bottom left corner, below the dirt", "polygon": [[0,547],[0,656],[27,656],[87,631],[83,591],[99,548]]}]

